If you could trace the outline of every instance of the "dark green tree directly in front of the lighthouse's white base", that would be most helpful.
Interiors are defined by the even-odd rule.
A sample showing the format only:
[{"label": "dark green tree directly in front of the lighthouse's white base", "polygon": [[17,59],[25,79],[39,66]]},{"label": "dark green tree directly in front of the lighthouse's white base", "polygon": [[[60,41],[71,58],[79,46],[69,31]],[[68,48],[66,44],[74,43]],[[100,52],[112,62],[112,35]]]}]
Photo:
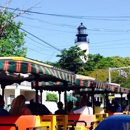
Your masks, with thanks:
[{"label": "dark green tree directly in front of the lighthouse's white base", "polygon": [[58,64],[61,68],[79,74],[82,74],[84,71],[85,63],[80,57],[86,58],[86,55],[79,47],[72,46],[68,50],[64,49],[57,57],[60,57]]}]

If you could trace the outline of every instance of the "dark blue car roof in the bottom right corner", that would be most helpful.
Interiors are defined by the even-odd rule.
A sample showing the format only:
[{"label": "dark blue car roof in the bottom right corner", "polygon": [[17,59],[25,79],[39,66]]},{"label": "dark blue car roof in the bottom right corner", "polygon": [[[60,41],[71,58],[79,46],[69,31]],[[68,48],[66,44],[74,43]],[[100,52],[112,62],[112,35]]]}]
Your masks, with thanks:
[{"label": "dark blue car roof in the bottom right corner", "polygon": [[109,116],[94,130],[130,130],[130,115]]}]

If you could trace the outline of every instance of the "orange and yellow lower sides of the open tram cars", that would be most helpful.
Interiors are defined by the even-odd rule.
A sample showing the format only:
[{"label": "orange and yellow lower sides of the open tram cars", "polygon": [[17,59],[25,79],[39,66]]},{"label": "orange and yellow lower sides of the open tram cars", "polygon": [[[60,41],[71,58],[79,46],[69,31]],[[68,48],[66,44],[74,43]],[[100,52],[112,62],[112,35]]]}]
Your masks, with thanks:
[{"label": "orange and yellow lower sides of the open tram cars", "polygon": [[[130,114],[128,111],[113,113]],[[3,116],[0,130],[93,130],[108,113],[95,115]]]}]

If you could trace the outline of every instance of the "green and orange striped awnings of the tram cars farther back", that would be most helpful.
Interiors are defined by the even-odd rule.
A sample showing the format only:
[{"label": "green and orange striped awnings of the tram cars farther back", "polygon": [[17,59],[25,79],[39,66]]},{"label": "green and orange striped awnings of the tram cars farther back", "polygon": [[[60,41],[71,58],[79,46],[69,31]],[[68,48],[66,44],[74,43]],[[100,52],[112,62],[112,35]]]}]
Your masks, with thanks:
[{"label": "green and orange striped awnings of the tram cars farther back", "polygon": [[[32,82],[32,88],[36,87],[36,82]],[[130,90],[118,85],[113,85],[104,82],[98,82],[95,80],[81,80],[76,79],[74,83],[68,82],[65,88],[62,82],[39,82],[39,89],[49,91],[65,91],[65,90],[76,90],[76,92],[91,92],[94,88],[94,92],[113,92],[113,93],[129,93]]]}]

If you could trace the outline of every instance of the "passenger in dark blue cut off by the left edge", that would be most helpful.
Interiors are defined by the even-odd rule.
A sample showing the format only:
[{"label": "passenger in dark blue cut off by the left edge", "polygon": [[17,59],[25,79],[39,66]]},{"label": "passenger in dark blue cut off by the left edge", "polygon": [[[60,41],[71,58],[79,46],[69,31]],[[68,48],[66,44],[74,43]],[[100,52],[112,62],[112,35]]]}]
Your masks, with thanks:
[{"label": "passenger in dark blue cut off by the left edge", "polygon": [[4,105],[5,105],[5,102],[4,102],[3,96],[0,95],[0,116],[9,115],[8,111],[4,109]]}]

